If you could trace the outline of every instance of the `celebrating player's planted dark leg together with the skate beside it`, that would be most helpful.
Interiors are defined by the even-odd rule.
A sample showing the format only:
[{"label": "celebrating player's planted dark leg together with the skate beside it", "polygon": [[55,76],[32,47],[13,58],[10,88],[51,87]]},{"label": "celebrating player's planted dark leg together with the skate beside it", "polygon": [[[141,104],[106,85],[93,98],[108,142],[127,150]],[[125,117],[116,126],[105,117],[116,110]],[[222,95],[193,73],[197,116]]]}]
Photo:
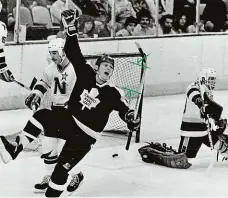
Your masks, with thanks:
[{"label": "celebrating player's planted dark leg together with the skate beside it", "polygon": [[51,176],[49,188],[46,191],[46,197],[59,197],[63,191],[67,191],[68,195],[72,194],[81,184],[84,176],[78,171],[70,184],[67,186],[70,178],[69,171],[81,161],[81,159],[91,150],[92,144],[96,140],[84,133],[73,121],[73,126],[65,130],[68,139],[61,151],[58,163]]}]

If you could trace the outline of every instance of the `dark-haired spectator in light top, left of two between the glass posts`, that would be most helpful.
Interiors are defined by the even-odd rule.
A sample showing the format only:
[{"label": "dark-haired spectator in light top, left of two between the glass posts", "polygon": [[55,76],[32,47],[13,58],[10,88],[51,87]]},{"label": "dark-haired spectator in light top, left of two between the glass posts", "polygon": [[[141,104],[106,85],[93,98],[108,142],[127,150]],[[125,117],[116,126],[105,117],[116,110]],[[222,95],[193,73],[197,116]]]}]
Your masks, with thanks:
[{"label": "dark-haired spectator in light top, left of two between the glass posts", "polygon": [[128,17],[125,21],[124,29],[119,30],[116,36],[132,36],[136,24],[136,18],[133,16]]}]

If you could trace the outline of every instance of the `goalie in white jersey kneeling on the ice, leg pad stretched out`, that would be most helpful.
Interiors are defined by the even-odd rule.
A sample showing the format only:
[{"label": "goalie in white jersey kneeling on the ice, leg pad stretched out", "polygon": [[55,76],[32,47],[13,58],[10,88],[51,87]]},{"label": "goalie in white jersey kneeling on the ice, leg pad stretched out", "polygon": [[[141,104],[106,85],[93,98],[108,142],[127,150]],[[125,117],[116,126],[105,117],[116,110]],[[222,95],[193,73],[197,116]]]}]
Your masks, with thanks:
[{"label": "goalie in white jersey kneeling on the ice, leg pad stretched out", "polygon": [[199,81],[190,84],[186,90],[178,152],[166,144],[152,142],[139,149],[143,161],[186,169],[191,166],[188,158],[195,158],[202,144],[228,156],[228,136],[223,134],[227,120],[220,118],[223,108],[213,101],[215,84],[215,70],[202,68]]}]

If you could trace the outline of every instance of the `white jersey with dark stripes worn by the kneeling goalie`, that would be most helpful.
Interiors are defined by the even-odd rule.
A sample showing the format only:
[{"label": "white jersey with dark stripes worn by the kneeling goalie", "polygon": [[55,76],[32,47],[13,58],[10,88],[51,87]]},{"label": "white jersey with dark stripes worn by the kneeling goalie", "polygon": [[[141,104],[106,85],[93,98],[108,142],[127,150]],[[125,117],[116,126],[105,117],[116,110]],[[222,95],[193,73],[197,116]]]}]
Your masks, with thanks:
[{"label": "white jersey with dark stripes worn by the kneeling goalie", "polygon": [[199,107],[195,104],[199,97],[201,97],[199,85],[190,84],[186,90],[186,102],[181,123],[182,136],[202,137],[207,135],[207,125],[201,116]]}]

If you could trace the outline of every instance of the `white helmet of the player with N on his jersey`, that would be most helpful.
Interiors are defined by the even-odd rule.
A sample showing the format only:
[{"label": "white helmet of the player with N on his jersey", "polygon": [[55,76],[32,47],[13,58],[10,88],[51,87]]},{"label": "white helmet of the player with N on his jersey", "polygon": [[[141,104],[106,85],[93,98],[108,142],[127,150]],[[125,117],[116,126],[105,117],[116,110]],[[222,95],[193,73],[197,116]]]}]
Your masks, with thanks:
[{"label": "white helmet of the player with N on his jersey", "polygon": [[59,56],[63,59],[65,56],[64,46],[65,46],[65,40],[62,38],[56,38],[49,42],[48,51],[59,52]]}]

